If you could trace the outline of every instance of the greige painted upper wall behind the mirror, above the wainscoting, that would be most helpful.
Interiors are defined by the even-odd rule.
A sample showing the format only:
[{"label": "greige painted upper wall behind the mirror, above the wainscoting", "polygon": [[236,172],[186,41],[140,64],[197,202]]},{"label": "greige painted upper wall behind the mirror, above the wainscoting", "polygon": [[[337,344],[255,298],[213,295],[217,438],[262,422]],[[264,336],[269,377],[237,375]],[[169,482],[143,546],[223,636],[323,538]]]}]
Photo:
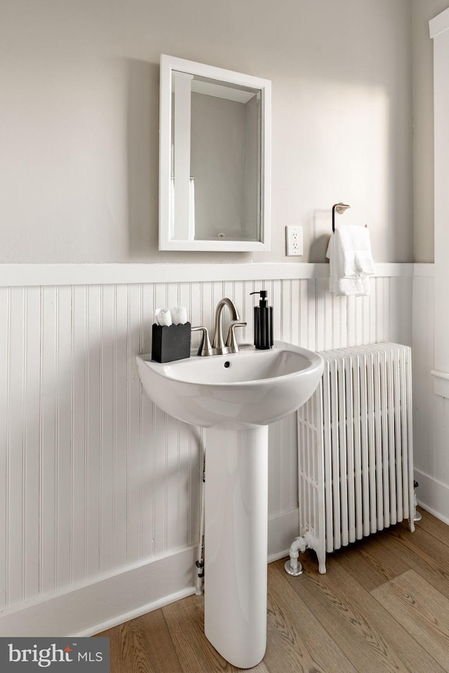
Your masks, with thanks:
[{"label": "greige painted upper wall behind the mirror, above the wainscoting", "polygon": [[[324,261],[340,200],[411,261],[411,46],[409,0],[2,2],[0,261]],[[271,253],[157,252],[161,53],[272,80]]]}]

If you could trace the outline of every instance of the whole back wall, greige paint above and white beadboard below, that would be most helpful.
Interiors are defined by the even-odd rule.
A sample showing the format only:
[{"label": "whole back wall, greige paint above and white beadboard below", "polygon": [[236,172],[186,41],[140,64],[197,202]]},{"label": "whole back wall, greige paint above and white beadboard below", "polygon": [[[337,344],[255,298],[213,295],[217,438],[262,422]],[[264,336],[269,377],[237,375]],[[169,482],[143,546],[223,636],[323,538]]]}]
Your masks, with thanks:
[{"label": "whole back wall, greige paint above and white beadboard below", "polygon": [[[251,324],[248,292],[264,286],[276,337],[413,340],[418,497],[433,502],[449,413],[429,393],[433,272],[395,263],[413,260],[413,161],[415,250],[433,259],[417,50],[434,4],[1,3],[1,634],[92,633],[192,592],[201,432],[140,390],[154,306],[186,304],[210,326],[227,295]],[[157,251],[160,53],[272,79],[272,252]],[[369,298],[335,299],[325,265],[285,257],[284,226],[300,224],[301,261],[324,261],[339,200],[391,262]],[[297,532],[295,461],[292,416],[270,430],[271,557]]]}]

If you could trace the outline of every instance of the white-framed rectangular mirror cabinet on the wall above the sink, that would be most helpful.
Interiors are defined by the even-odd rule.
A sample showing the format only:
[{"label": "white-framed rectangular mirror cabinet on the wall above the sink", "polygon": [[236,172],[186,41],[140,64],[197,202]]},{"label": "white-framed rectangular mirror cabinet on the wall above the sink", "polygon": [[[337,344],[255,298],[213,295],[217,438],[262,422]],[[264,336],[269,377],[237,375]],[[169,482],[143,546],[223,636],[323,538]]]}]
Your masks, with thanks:
[{"label": "white-framed rectangular mirror cabinet on the wall above the sink", "polygon": [[269,250],[271,82],[161,55],[159,133],[159,250]]}]

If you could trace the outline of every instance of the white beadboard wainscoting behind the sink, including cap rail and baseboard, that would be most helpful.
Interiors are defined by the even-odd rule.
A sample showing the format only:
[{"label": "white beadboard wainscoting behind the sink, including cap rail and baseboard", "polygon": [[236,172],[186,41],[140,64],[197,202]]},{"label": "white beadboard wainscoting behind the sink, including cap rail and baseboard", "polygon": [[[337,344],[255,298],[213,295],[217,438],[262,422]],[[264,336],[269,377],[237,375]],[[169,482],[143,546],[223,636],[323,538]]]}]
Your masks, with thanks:
[{"label": "white beadboard wainscoting behind the sink, including cap rail and baseboard", "polygon": [[[194,592],[202,432],[142,392],[135,355],[151,350],[154,308],[187,306],[192,325],[211,328],[230,297],[250,341],[250,292],[264,288],[277,339],[411,345],[415,283],[424,378],[432,285],[417,266],[431,268],[379,264],[370,297],[335,298],[326,264],[2,265],[0,633],[94,633]],[[269,447],[274,559],[297,535],[295,414],[270,427]],[[430,452],[423,473],[449,477]]]}]

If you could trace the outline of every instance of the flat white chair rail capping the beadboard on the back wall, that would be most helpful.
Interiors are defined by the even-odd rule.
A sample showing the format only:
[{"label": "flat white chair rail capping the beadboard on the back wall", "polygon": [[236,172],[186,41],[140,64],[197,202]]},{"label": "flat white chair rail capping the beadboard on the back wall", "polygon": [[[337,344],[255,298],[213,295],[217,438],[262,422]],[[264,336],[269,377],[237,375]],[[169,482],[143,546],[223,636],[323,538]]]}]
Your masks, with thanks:
[{"label": "flat white chair rail capping the beadboard on the back wall", "polygon": [[[422,269],[422,267],[426,267]],[[387,262],[378,277],[434,276],[433,264]],[[0,287],[25,285],[130,285],[197,283],[210,280],[290,280],[328,278],[328,264],[0,264]]]}]

